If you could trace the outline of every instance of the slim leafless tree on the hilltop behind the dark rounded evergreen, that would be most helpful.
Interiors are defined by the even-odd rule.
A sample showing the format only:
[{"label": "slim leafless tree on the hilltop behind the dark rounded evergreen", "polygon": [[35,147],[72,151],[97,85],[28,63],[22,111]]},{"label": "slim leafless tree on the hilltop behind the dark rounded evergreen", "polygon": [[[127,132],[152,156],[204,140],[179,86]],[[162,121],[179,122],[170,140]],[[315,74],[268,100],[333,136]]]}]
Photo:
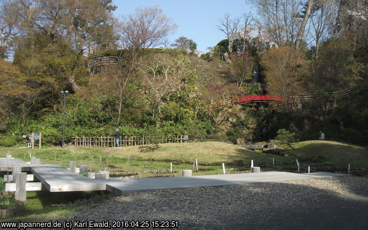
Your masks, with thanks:
[{"label": "slim leafless tree on the hilltop behind the dark rounded evergreen", "polygon": [[226,38],[228,40],[227,58],[230,58],[231,53],[233,52],[233,44],[239,31],[239,24],[240,24],[239,17],[230,18],[230,15],[226,13],[223,19],[220,19],[220,25],[217,26],[218,30],[226,34]]}]

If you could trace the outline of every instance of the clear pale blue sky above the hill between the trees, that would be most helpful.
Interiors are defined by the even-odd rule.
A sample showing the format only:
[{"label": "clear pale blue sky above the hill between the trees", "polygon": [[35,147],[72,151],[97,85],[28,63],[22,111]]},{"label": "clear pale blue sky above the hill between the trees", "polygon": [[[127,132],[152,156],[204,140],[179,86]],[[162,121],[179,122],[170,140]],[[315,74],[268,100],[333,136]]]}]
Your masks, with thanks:
[{"label": "clear pale blue sky above the hill between the trees", "polygon": [[235,17],[254,11],[244,0],[114,0],[113,4],[118,6],[114,12],[115,16],[132,14],[135,8],[140,6],[159,6],[164,14],[173,18],[178,25],[176,33],[169,37],[170,43],[174,43],[180,36],[185,36],[197,43],[197,50],[203,51],[226,38],[225,34],[216,28],[225,13]]}]

